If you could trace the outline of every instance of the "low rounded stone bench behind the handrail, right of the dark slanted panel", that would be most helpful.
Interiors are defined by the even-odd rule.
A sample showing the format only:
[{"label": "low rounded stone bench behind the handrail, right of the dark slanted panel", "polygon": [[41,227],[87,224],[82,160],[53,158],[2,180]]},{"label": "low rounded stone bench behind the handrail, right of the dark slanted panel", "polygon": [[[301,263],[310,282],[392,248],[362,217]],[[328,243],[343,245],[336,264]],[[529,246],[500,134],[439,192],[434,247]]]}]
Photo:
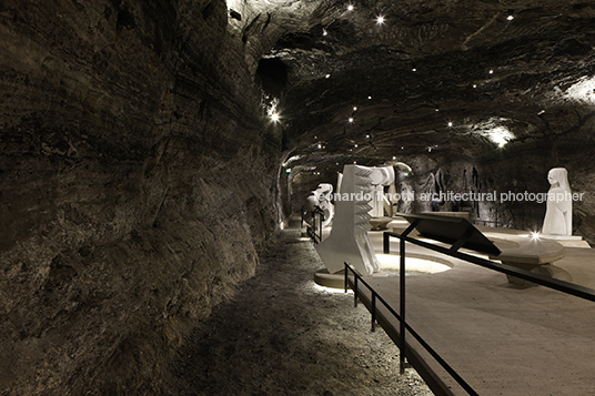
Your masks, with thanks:
[{"label": "low rounded stone bench behind the handrail, right of the dark slanted panel", "polygon": [[[497,256],[490,256],[491,260],[500,260],[502,264],[554,277],[556,272],[562,272],[552,263],[564,258],[566,250],[557,242],[553,241],[530,241],[517,247],[504,248]],[[559,271],[556,271],[559,270]],[[533,283],[521,280],[516,276],[506,275],[508,283],[514,285],[528,286]]]}]

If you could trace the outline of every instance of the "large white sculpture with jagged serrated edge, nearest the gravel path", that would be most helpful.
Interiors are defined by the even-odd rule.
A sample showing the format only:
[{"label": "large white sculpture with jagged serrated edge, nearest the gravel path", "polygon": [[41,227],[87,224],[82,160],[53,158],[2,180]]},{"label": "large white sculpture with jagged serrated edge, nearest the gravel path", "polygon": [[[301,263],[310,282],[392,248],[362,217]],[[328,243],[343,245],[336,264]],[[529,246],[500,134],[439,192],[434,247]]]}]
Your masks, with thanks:
[{"label": "large white sculpture with jagged serrated edge, nearest the gravel path", "polygon": [[373,180],[384,180],[377,167],[345,165],[341,194],[335,197],[335,216],[331,235],[316,245],[316,251],[331,274],[344,268],[344,262],[363,275],[380,271],[380,263],[367,236],[372,216]]}]

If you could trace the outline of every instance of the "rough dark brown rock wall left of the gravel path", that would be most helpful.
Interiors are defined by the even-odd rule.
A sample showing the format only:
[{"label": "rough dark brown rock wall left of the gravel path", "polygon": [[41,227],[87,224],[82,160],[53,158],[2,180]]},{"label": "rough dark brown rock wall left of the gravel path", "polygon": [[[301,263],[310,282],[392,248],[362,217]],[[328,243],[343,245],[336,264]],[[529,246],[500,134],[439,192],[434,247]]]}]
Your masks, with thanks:
[{"label": "rough dark brown rock wall left of the gravel path", "polygon": [[1,394],[157,393],[253,274],[280,138],[226,13],[0,3]]}]

